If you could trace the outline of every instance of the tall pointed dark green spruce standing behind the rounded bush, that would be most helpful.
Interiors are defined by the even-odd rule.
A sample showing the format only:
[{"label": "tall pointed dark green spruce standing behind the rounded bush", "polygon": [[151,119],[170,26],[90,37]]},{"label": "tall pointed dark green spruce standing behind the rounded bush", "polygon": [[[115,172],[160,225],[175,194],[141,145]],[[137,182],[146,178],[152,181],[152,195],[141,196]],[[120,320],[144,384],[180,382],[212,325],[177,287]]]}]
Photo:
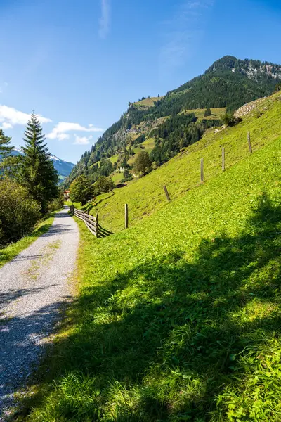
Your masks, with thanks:
[{"label": "tall pointed dark green spruce standing behind the rounded bush", "polygon": [[23,140],[21,181],[44,213],[48,202],[58,197],[58,172],[53,167],[43,129],[34,112],[27,122]]}]

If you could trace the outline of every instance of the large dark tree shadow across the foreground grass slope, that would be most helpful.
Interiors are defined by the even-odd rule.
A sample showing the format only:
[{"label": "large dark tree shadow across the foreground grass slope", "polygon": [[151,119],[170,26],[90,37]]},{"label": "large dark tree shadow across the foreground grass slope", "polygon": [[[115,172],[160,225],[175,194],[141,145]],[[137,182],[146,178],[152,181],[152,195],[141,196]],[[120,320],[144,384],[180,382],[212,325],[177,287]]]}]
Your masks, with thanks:
[{"label": "large dark tree shadow across the foreground grass slope", "polygon": [[182,250],[85,288],[72,309],[79,328],[58,341],[44,378],[56,390],[30,402],[42,403],[40,420],[279,420],[278,396],[263,403],[265,389],[252,399],[267,407],[260,419],[250,410],[228,419],[218,397],[233,388],[240,402],[280,337],[280,222],[281,207],[263,196],[240,236],[202,241],[192,262]]}]

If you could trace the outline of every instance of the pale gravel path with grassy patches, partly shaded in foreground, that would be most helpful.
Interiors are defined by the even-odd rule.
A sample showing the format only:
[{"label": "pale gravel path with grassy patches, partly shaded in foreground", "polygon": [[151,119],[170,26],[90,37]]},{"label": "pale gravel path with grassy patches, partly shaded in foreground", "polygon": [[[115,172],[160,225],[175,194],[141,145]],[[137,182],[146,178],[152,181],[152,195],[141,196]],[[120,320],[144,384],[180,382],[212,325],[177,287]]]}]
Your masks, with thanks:
[{"label": "pale gravel path with grassy patches, partly shaded in foreground", "polygon": [[78,226],[65,207],[48,233],[0,269],[0,421],[71,298],[78,242]]}]

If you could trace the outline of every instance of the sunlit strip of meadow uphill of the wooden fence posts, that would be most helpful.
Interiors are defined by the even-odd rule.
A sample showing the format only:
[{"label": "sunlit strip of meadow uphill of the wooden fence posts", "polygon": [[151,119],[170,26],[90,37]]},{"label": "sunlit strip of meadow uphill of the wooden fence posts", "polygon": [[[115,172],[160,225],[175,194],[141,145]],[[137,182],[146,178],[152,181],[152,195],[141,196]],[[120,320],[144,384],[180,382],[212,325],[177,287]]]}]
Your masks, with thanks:
[{"label": "sunlit strip of meadow uphill of the wooden fence posts", "polygon": [[226,168],[249,155],[247,131],[251,132],[253,151],[277,139],[281,134],[281,94],[266,98],[236,127],[219,133],[210,132],[183,153],[148,176],[128,186],[97,198],[96,205],[87,205],[90,213],[98,212],[100,224],[117,232],[124,227],[124,204],[129,205],[129,224],[133,226],[166,204],[163,185],[172,199],[200,184],[200,158],[204,158],[204,179],[209,181],[221,173],[221,147],[226,149]]}]

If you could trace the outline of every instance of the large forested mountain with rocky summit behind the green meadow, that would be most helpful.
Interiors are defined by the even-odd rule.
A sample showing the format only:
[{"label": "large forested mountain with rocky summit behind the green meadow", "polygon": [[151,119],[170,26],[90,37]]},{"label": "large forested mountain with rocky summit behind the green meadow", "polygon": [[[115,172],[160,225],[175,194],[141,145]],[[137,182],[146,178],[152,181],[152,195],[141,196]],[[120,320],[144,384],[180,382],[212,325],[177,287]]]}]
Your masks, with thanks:
[{"label": "large forested mountain with rocky summit behind the green meadow", "polygon": [[[81,174],[93,183],[98,177],[109,176],[120,168],[130,169],[133,156],[141,149],[148,149],[154,167],[162,165],[181,148],[198,141],[206,129],[219,126],[226,108],[234,111],[244,103],[268,96],[280,80],[280,65],[225,56],[204,75],[169,91],[164,97],[143,97],[129,103],[119,121],[82,155],[65,180],[65,186]],[[203,117],[198,117],[196,110],[206,108],[219,111],[211,110],[211,115],[203,113]],[[115,181],[132,177],[129,172],[125,174]]]}]

